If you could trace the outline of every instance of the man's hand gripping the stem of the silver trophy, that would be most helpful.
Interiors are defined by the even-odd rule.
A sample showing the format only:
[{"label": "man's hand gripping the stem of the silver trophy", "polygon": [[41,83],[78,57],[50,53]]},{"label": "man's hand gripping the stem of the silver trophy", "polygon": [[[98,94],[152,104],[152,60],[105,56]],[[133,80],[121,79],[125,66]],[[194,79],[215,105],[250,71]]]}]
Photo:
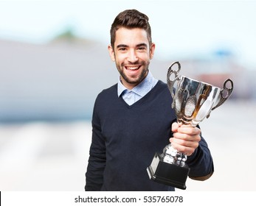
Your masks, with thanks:
[{"label": "man's hand gripping the stem of the silver trophy", "polygon": [[170,138],[170,143],[173,148],[187,154],[187,156],[193,154],[199,145],[199,141],[201,141],[201,129],[174,122],[172,131],[173,138]]}]

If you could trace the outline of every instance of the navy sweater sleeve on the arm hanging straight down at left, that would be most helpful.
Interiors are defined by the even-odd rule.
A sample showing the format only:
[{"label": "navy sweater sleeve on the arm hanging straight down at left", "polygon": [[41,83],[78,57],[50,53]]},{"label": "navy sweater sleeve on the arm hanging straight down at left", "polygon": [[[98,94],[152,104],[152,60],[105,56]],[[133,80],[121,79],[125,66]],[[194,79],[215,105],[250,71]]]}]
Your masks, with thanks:
[{"label": "navy sweater sleeve on the arm hanging straight down at left", "polygon": [[[95,103],[96,104],[96,103]],[[100,118],[94,105],[92,116],[92,140],[86,171],[86,191],[100,191],[105,170],[105,141],[101,132]]]}]

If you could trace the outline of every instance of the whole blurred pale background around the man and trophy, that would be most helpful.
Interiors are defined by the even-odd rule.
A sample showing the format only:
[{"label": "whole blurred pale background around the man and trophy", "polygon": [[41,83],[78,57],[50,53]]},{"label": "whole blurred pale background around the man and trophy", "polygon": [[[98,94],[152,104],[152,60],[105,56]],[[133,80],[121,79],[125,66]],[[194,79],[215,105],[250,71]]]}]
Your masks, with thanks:
[{"label": "whole blurred pale background around the man and trophy", "polygon": [[187,77],[234,82],[201,123],[215,174],[187,191],[255,190],[255,1],[0,0],[1,191],[83,191],[94,99],[119,77],[109,29],[133,8],[150,18],[156,78],[179,61]]}]

